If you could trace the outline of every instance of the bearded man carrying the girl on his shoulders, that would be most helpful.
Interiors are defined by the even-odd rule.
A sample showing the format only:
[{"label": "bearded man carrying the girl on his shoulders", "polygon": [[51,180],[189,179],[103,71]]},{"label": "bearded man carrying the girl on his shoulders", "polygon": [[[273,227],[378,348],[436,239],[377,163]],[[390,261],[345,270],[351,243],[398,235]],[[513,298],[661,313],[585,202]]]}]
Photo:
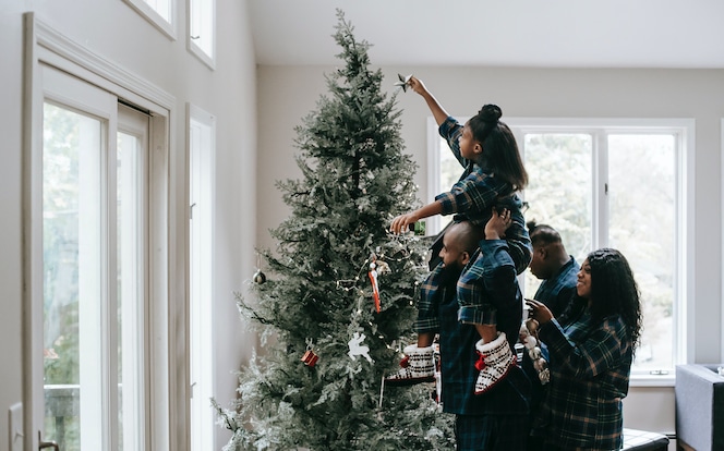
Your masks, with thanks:
[{"label": "bearded man carrying the girl on his shoulders", "polygon": [[[469,290],[470,295],[484,296],[486,301],[495,302],[497,328],[506,332],[510,340],[506,342],[507,346],[515,342],[522,320],[522,295],[508,245],[500,239],[506,229],[502,218],[503,216],[493,214],[485,227],[484,239],[478,243],[480,249],[473,251],[476,247],[474,237],[471,245],[467,246],[467,259],[455,258],[456,249],[448,248],[449,243],[458,235],[478,234],[476,228],[467,221],[456,223],[455,228],[448,230],[444,236],[445,247],[441,253],[445,265],[452,271],[451,287],[441,283],[438,292],[442,403],[443,412],[456,416],[456,449],[459,451],[527,449],[526,431],[530,429],[528,378],[518,366],[512,365],[505,378],[494,383],[488,391],[475,394],[473,387],[481,373],[475,366],[479,358],[475,343],[480,340],[480,334],[473,325],[459,320],[460,305],[457,297],[462,291]],[[462,270],[460,264],[466,260],[480,269],[483,277],[456,289],[457,275]],[[457,270],[452,269],[455,267]],[[450,289],[454,293],[446,295]]]}]

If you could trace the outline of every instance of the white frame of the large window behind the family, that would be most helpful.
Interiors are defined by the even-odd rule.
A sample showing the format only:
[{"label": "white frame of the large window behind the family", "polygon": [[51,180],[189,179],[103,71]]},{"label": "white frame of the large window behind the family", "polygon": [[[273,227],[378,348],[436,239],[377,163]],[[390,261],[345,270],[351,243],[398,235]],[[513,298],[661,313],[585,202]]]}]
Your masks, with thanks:
[{"label": "white frame of the large window behind the family", "polygon": [[[460,117],[463,123],[469,118]],[[630,386],[672,387],[675,381],[675,367],[689,363],[693,355],[692,300],[696,298],[693,284],[695,239],[689,233],[695,230],[695,135],[696,121],[689,118],[505,118],[504,122],[512,131],[524,161],[524,135],[527,133],[587,133],[593,138],[593,218],[592,244],[594,248],[606,244],[608,206],[605,194],[607,181],[606,139],[611,134],[673,133],[677,136],[676,161],[676,283],[674,287],[674,333],[681,340],[674,341],[673,367],[667,373],[651,374],[649,370],[631,368]],[[724,124],[724,120],[723,120]],[[724,125],[723,125],[724,126]],[[724,132],[723,132],[724,135]],[[434,200],[439,186],[442,147],[438,126],[434,118],[427,119],[427,197]],[[603,168],[603,169],[601,169]],[[524,197],[524,192],[523,192]],[[427,228],[433,233],[439,231],[439,217],[427,218]],[[681,343],[683,341],[683,343]],[[677,343],[679,343],[677,345]]]}]

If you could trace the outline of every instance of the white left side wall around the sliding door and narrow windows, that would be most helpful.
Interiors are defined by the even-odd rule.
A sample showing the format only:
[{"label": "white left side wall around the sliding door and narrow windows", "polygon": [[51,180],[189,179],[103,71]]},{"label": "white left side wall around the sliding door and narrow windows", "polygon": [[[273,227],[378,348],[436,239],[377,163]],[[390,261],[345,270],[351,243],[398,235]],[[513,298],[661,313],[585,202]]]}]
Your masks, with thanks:
[{"label": "white left side wall around the sliding door and narrow windows", "polygon": [[[140,75],[176,98],[171,111],[171,153],[184,155],[185,106],[192,102],[217,118],[216,260],[214,287],[217,398],[234,398],[231,374],[249,355],[254,339],[244,332],[233,291],[254,271],[256,222],[256,81],[246,2],[217,0],[217,68],[210,71],[186,51],[185,4],[178,1],[178,40],[170,40],[121,0],[0,2],[0,449],[8,443],[8,407],[22,399],[21,373],[21,157],[23,16],[28,11],[94,53]],[[183,158],[171,168],[183,180]],[[183,190],[177,184],[174,190]],[[178,192],[179,194],[182,191]],[[182,254],[181,254],[182,255]],[[183,292],[183,290],[180,290]],[[174,300],[182,304],[182,300]],[[228,440],[219,428],[214,449]]]}]

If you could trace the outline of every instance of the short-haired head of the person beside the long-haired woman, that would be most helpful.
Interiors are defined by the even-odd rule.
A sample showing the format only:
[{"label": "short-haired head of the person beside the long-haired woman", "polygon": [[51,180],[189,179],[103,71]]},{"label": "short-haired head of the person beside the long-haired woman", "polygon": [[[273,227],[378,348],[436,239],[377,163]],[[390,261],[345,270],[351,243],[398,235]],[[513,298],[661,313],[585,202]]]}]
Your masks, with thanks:
[{"label": "short-haired head of the person beside the long-haired woman", "polygon": [[533,257],[530,271],[539,279],[550,279],[570,258],[566,252],[560,234],[547,224],[528,222],[528,233],[533,245]]}]

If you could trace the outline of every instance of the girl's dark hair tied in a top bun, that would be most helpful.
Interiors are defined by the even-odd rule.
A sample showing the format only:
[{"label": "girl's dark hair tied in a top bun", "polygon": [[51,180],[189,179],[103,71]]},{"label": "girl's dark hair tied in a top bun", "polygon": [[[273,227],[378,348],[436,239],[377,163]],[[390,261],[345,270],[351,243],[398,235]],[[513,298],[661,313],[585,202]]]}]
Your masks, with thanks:
[{"label": "girl's dark hair tied in a top bun", "polygon": [[473,139],[486,150],[483,151],[481,161],[476,162],[510,183],[514,191],[518,191],[528,184],[528,172],[520,157],[516,137],[508,125],[499,121],[502,115],[503,111],[497,105],[484,105],[478,114],[470,118],[467,125]]}]

